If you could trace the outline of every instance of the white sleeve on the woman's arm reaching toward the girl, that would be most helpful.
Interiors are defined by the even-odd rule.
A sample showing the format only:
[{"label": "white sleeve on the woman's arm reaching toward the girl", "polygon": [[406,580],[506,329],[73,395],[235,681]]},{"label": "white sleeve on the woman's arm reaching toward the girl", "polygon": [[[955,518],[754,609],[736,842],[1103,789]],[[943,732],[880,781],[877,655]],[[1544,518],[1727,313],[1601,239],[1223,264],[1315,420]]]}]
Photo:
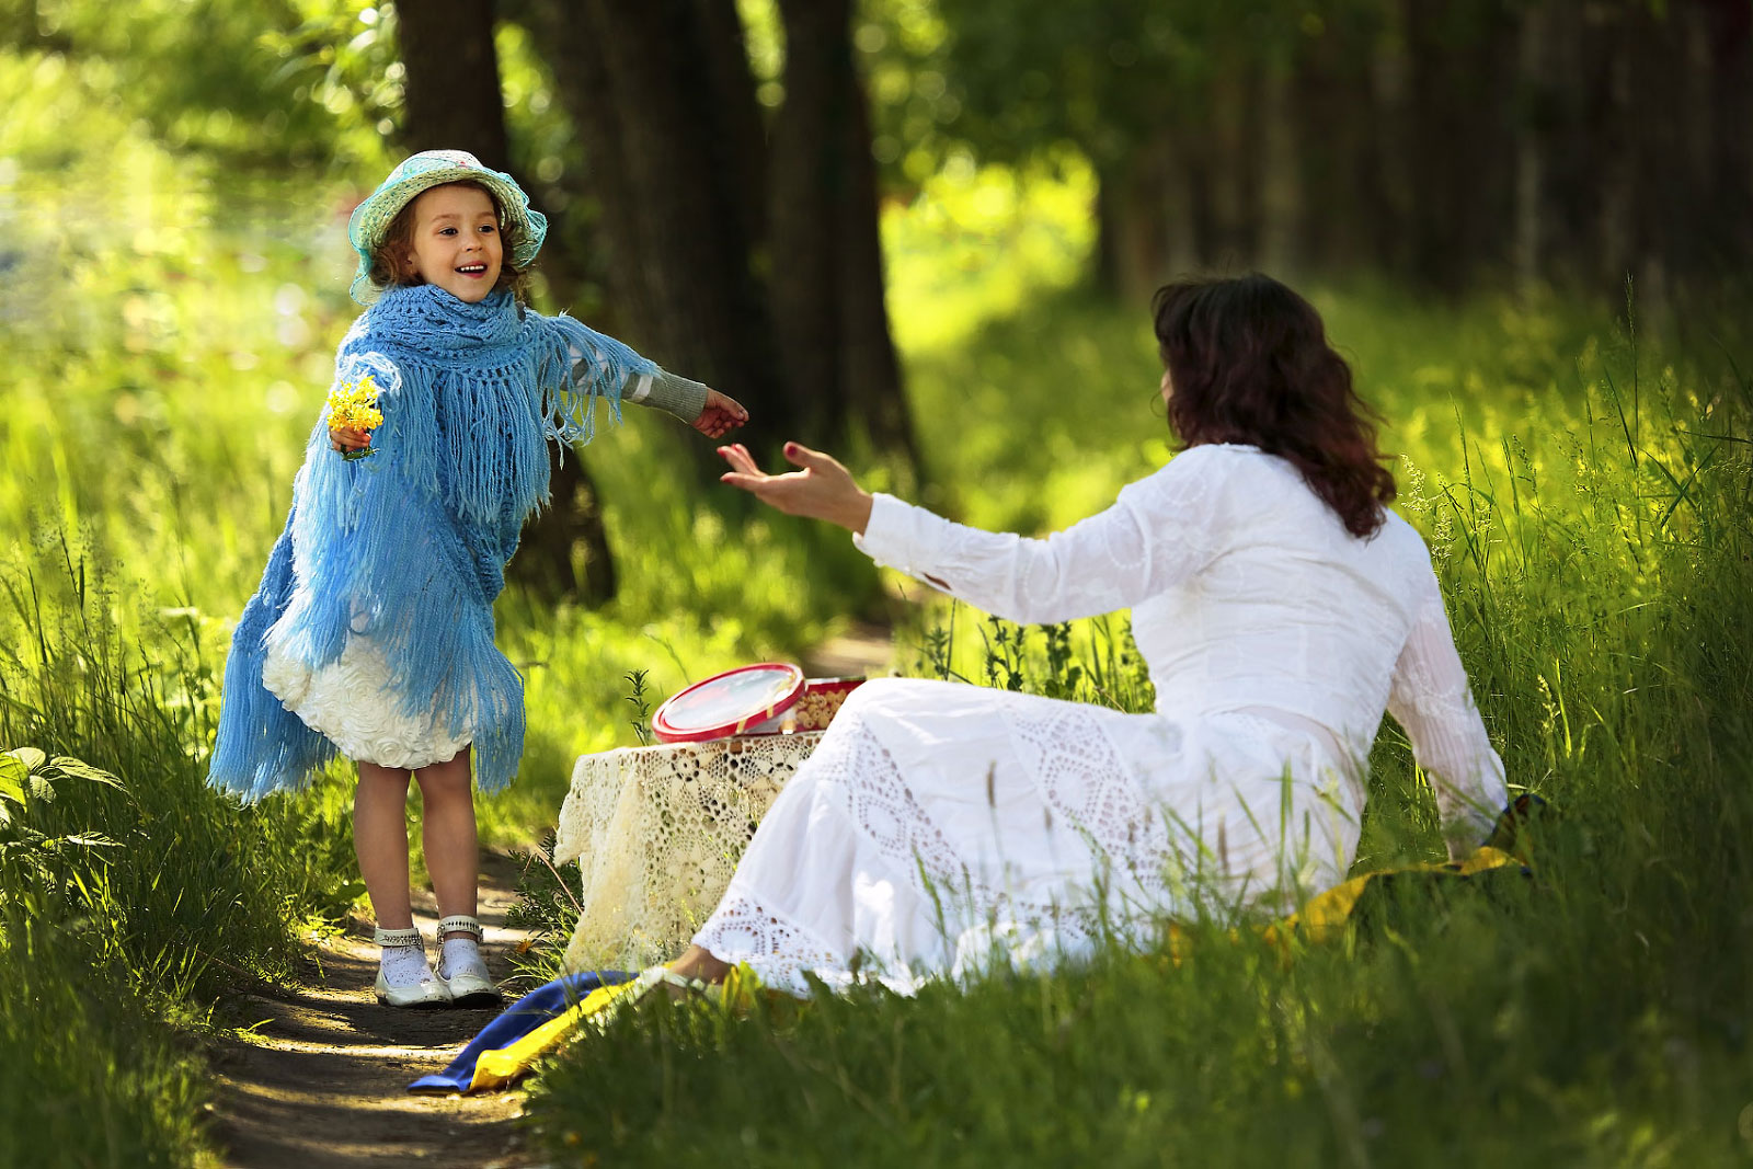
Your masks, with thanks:
[{"label": "white sleeve on the woman's arm reaching toward the girl", "polygon": [[1194,449],[1104,512],[1045,540],[954,524],[878,494],[857,545],[880,564],[1026,624],[1127,608],[1187,580],[1215,549],[1218,466]]}]

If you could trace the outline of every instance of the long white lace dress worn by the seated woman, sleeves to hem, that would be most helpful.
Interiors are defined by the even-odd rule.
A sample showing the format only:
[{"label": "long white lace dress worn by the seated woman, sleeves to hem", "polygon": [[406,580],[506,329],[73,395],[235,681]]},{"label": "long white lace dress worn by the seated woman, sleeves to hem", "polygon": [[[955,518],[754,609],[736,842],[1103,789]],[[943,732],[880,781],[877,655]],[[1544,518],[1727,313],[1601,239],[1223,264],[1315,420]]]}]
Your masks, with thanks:
[{"label": "long white lace dress worn by the seated woman, sleeves to hem", "polygon": [[1157,713],[975,685],[854,691],[694,943],[808,994],[1146,941],[1166,917],[1285,908],[1352,862],[1383,710],[1451,836],[1504,804],[1418,533],[1371,540],[1285,461],[1208,445],[1047,540],[876,496],[875,561],[1018,622],[1132,608]]}]

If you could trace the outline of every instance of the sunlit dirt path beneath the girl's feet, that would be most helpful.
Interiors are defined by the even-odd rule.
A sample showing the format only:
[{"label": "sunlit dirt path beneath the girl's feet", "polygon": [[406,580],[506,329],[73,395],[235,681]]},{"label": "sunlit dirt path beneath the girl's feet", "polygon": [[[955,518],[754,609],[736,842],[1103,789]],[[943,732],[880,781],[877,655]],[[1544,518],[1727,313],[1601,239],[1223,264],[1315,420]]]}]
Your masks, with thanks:
[{"label": "sunlit dirt path beneath the girl's feet", "polygon": [[[480,920],[494,978],[526,938],[505,929],[515,866],[482,857]],[[436,906],[415,894],[414,920],[433,936]],[[431,946],[428,945],[428,952]],[[403,1011],[379,1006],[377,946],[363,922],[307,959],[303,985],[228,1004],[233,1025],[259,1027],[214,1060],[221,1165],[330,1169],[438,1165],[521,1169],[536,1164],[514,1123],[521,1092],[480,1097],[410,1095],[410,1080],[438,1071],[493,1022],[496,1010]]]}]

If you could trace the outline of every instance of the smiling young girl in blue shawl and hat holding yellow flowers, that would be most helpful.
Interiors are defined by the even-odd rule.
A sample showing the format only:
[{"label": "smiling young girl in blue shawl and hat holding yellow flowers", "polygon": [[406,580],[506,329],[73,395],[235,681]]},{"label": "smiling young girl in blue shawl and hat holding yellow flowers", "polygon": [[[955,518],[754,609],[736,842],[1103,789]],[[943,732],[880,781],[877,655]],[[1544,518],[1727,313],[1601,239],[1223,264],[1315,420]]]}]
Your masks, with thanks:
[{"label": "smiling young girl in blue shawl and hat holding yellow flowers", "polygon": [[[617,340],[522,303],[547,221],[463,151],[396,166],[352,214],[352,296],[368,310],[335,361],[377,391],[375,433],[319,422],[286,531],[238,620],[209,782],[256,799],[337,750],[359,764],[354,847],[393,1006],[484,1004],[498,990],[475,920],[475,810],[522,754],[522,680],[493,645],[493,599],[549,496],[547,442],[589,442],[607,398],[719,436],[747,412]],[[370,382],[365,379],[370,375]],[[370,457],[342,452],[368,449]],[[438,897],[436,973],[408,904],[403,820],[421,787]]]}]

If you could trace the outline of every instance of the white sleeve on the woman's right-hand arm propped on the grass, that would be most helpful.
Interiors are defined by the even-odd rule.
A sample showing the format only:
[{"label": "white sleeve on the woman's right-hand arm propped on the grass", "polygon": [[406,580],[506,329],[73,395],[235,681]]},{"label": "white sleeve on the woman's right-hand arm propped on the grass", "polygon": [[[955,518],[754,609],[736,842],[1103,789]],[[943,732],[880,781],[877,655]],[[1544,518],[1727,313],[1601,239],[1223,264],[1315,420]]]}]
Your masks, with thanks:
[{"label": "white sleeve on the woman's right-hand arm propped on the grass", "polygon": [[1418,619],[1394,666],[1388,713],[1406,729],[1418,766],[1430,776],[1450,848],[1471,848],[1508,803],[1504,762],[1473,703],[1443,592],[1429,568],[1422,592]]}]

